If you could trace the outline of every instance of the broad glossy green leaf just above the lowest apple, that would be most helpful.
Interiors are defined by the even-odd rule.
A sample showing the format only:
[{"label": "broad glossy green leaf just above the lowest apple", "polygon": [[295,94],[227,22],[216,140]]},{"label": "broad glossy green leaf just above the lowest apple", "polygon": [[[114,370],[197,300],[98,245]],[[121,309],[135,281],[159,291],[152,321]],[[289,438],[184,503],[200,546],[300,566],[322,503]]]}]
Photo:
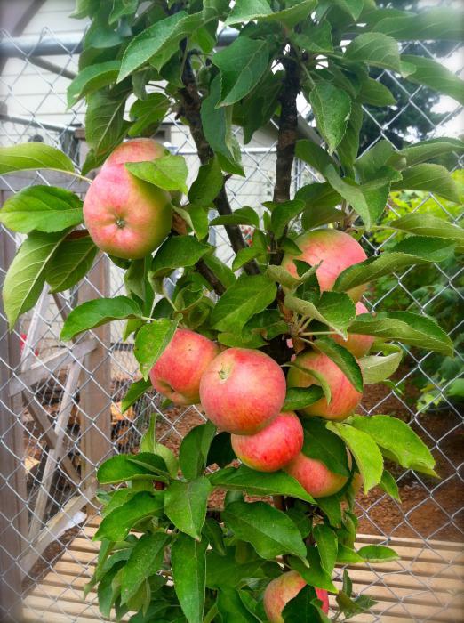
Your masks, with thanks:
[{"label": "broad glossy green leaf just above the lowest apple", "polygon": [[251,543],[262,558],[306,556],[300,530],[282,511],[265,502],[233,502],[222,511],[222,518],[236,538]]}]

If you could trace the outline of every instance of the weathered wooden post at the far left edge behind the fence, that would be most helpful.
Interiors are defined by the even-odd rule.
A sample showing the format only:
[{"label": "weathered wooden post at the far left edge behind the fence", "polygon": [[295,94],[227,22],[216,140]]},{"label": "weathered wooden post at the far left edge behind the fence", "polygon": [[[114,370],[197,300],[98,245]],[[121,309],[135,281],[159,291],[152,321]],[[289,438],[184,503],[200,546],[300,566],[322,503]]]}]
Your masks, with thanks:
[{"label": "weathered wooden post at the far left edge behind the fence", "polygon": [[[0,268],[12,263],[14,240],[0,230]],[[20,554],[28,538],[24,436],[18,397],[10,396],[12,369],[20,372],[20,340],[9,333],[0,302],[0,620],[22,620]],[[4,364],[7,365],[4,365]]]}]

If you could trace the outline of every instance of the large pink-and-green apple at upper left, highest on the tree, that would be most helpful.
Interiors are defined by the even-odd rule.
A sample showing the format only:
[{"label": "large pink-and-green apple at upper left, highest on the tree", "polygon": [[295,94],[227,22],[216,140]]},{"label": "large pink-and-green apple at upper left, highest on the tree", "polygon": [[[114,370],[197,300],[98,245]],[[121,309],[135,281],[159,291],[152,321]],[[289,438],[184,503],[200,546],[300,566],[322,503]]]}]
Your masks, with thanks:
[{"label": "large pink-and-green apple at upper left, highest on the tree", "polygon": [[84,223],[102,251],[140,259],[171,230],[170,196],[130,174],[124,164],[104,166],[85,196]]}]

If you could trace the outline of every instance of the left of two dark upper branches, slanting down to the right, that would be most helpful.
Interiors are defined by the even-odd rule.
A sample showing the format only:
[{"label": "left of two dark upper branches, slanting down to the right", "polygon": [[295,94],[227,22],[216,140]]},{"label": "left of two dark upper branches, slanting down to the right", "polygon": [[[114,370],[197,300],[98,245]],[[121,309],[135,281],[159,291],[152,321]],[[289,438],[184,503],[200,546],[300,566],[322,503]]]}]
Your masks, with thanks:
[{"label": "left of two dark upper branches, slanting down to the right", "polygon": [[[200,158],[202,165],[204,165],[212,158],[212,149],[209,142],[207,142],[204,137],[202,118],[200,114],[202,102],[196,88],[195,75],[188,58],[184,64],[182,82],[184,87],[179,91],[180,100],[182,102],[182,114],[188,120],[190,132],[192,133],[196,149],[198,150],[198,157]],[[222,184],[220,193],[214,199],[214,206],[221,216],[232,214],[232,208],[228,202],[225,180]],[[236,253],[240,251],[240,249],[246,248],[244,236],[237,225],[225,225],[225,229],[228,234],[230,244]],[[246,271],[249,275],[256,275],[259,274],[260,269],[258,268],[258,264],[252,260],[251,262],[244,264],[244,271]]]}]

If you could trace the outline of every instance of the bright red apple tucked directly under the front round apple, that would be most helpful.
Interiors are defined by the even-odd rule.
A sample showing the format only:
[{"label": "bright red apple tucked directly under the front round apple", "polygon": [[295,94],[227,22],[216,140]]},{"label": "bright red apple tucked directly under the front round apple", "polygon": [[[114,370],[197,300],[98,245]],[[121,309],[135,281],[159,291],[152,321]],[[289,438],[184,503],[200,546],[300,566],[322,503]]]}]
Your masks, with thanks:
[{"label": "bright red apple tucked directly under the front round apple", "polygon": [[279,413],[253,435],[231,435],[236,456],[258,472],[276,472],[296,457],[303,445],[303,427],[292,412]]}]

